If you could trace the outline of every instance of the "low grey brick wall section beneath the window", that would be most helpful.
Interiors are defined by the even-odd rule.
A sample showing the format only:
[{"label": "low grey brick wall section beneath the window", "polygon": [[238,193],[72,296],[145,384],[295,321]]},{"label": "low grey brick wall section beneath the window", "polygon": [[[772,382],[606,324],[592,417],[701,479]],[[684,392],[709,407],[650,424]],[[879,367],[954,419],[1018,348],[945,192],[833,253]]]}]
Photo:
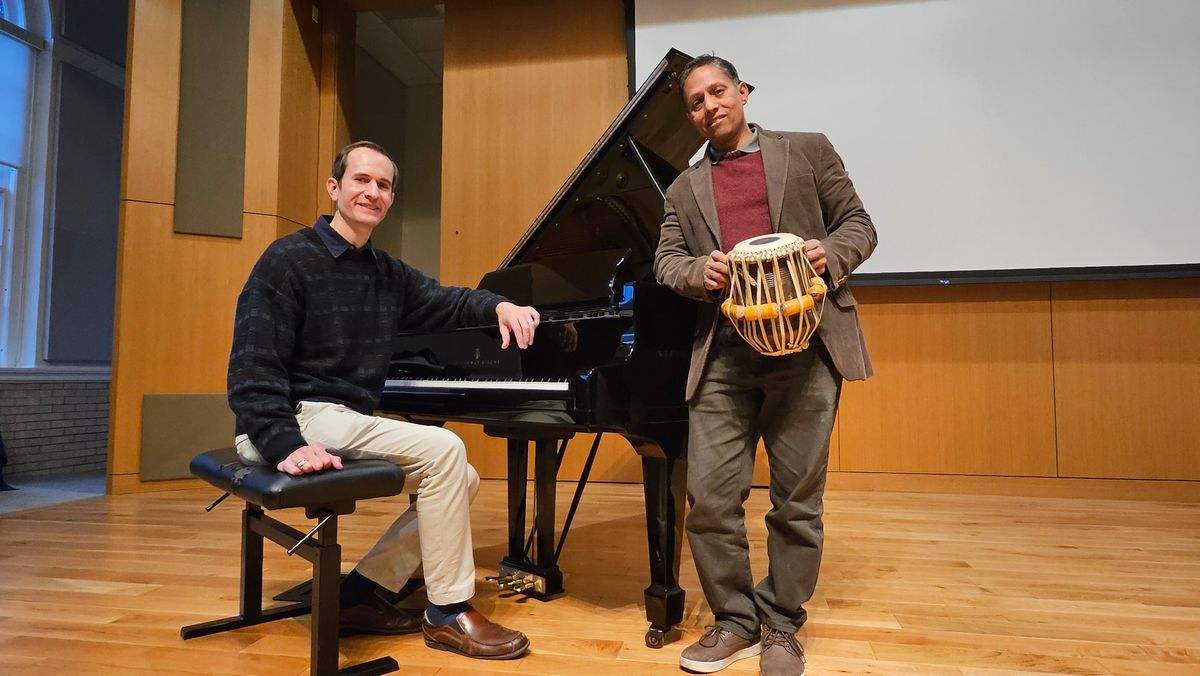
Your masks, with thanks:
[{"label": "low grey brick wall section beneath the window", "polygon": [[6,479],[104,469],[108,381],[0,382]]}]

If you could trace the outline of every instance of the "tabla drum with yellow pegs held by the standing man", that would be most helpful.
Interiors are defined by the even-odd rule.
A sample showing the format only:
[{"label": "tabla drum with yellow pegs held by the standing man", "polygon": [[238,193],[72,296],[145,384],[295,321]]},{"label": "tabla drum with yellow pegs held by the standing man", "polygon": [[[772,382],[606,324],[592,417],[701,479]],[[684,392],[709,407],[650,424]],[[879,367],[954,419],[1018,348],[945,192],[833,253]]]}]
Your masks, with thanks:
[{"label": "tabla drum with yellow pegs held by the standing man", "polygon": [[821,323],[828,287],[804,256],[804,240],[774,233],[738,243],[721,312],[758,352],[800,352]]}]

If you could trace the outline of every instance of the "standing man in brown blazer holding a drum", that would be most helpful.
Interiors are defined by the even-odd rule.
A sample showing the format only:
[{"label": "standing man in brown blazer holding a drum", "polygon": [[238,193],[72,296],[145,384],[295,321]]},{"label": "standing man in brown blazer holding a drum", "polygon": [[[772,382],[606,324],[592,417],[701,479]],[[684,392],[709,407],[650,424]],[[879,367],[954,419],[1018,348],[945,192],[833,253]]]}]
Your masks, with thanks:
[{"label": "standing man in brown blazer holding a drum", "polygon": [[[804,672],[796,632],[821,566],[829,435],[844,378],[871,363],[845,286],[875,250],[875,227],[841,158],[820,133],[746,122],[749,88],[728,61],[694,59],[680,72],[688,118],[709,144],[666,195],[655,275],[702,301],[688,376],[688,538],[716,624],[679,664],[719,671],[762,653],[763,675]],[[754,351],[718,311],[730,283],[725,252],[772,232],[793,233],[829,286],[811,346],[786,357]],[[767,576],[754,584],[743,502],[762,438],[770,461]]]}]

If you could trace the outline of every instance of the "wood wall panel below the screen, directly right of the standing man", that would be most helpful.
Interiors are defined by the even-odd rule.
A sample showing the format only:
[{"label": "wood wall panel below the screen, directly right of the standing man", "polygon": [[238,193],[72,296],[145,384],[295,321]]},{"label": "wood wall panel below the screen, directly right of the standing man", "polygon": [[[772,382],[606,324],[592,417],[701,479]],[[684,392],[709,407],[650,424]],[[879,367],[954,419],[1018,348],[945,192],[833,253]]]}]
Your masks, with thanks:
[{"label": "wood wall panel below the screen, directly right of the standing man", "polygon": [[876,376],[842,390],[842,471],[1055,475],[1049,285],[854,293]]}]

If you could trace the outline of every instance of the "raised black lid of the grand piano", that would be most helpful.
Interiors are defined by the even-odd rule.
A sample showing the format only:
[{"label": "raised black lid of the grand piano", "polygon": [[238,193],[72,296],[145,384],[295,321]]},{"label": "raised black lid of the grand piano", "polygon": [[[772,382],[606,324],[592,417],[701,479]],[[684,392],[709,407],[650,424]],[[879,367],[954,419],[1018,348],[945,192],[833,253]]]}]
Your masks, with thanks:
[{"label": "raised black lid of the grand piano", "polygon": [[[500,264],[550,265],[556,257],[628,250],[652,261],[662,198],[704,139],[684,112],[678,74],[691,56],[671,49],[566,184]],[[480,283],[488,288],[487,279]]]}]

